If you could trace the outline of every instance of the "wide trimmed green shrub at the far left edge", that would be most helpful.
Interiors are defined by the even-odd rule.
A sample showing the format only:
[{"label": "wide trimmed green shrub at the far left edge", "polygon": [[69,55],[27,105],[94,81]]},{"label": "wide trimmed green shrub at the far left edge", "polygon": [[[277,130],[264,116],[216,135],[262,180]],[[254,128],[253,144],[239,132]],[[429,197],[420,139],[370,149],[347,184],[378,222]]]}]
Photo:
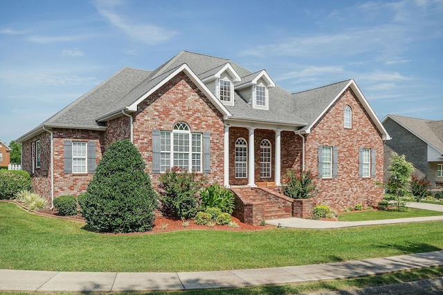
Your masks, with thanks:
[{"label": "wide trimmed green shrub at the far left edge", "polygon": [[0,170],[0,200],[14,198],[19,191],[30,191],[33,181],[24,170]]}]

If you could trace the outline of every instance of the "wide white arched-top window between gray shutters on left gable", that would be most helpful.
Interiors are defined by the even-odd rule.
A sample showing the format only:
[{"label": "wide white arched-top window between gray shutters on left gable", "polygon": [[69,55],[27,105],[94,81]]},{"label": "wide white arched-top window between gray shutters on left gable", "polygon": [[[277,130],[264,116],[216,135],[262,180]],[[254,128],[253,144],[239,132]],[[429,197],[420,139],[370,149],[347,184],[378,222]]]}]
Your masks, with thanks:
[{"label": "wide white arched-top window between gray shutters on left gable", "polygon": [[201,133],[191,133],[185,122],[175,124],[172,132],[161,131],[160,146],[162,172],[172,166],[201,172]]}]

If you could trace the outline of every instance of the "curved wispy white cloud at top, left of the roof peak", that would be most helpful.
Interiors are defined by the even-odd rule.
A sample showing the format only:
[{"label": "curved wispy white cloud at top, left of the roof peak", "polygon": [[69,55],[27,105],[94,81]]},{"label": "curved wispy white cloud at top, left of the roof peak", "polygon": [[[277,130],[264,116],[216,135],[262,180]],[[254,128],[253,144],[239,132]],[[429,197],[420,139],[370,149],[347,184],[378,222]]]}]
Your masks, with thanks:
[{"label": "curved wispy white cloud at top, left of the roof peak", "polygon": [[114,10],[120,4],[120,1],[96,1],[96,8],[100,15],[131,39],[144,44],[155,45],[168,41],[177,35],[177,32],[161,28],[152,23],[137,23],[123,15],[119,15]]}]

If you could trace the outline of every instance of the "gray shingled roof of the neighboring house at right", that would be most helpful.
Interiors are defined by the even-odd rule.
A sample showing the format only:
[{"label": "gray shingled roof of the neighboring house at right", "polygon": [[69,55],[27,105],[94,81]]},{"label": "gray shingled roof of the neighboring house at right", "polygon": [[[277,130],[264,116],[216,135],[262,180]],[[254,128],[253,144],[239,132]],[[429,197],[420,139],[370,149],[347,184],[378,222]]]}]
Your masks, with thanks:
[{"label": "gray shingled roof of the neighboring house at right", "polygon": [[388,115],[388,117],[443,153],[443,120],[425,120],[399,115]]}]

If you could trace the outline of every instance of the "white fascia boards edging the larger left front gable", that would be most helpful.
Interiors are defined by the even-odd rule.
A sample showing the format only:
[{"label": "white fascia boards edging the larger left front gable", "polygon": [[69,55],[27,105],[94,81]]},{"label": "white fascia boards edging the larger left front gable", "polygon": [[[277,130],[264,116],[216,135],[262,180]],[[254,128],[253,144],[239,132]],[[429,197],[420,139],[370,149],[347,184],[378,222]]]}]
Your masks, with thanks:
[{"label": "white fascia boards edging the larger left front gable", "polygon": [[[168,77],[163,79],[159,84],[156,84],[156,86],[151,88],[150,91],[148,91],[147,93],[142,95],[140,98],[138,98],[136,100],[136,102],[127,106],[127,110],[137,111],[138,104],[143,102],[143,100],[145,100],[147,97],[152,95],[152,93],[154,93],[155,91],[159,90],[159,88],[161,88],[161,86],[166,84],[168,81],[170,81],[170,79],[172,79],[173,77],[175,77],[176,75],[178,75],[181,72],[185,73],[192,80],[192,82],[194,82],[195,85],[197,85],[197,87],[200,89],[200,91],[203,92],[204,95],[206,95],[206,97],[209,98],[210,102],[212,102],[223,115],[230,116],[228,109],[223,104],[221,104],[221,102],[219,102],[217,97],[215,97],[215,95],[213,95],[213,93],[208,89],[208,87],[206,87],[206,85],[203,82],[201,82],[201,79],[199,79],[199,77],[197,77],[197,75],[195,75],[195,73],[192,72],[192,70],[190,69],[190,67],[187,64],[181,65],[179,68],[177,68],[177,70],[174,70],[174,72],[172,72],[170,75],[168,75]],[[119,112],[120,111],[121,110],[119,110]]]}]

